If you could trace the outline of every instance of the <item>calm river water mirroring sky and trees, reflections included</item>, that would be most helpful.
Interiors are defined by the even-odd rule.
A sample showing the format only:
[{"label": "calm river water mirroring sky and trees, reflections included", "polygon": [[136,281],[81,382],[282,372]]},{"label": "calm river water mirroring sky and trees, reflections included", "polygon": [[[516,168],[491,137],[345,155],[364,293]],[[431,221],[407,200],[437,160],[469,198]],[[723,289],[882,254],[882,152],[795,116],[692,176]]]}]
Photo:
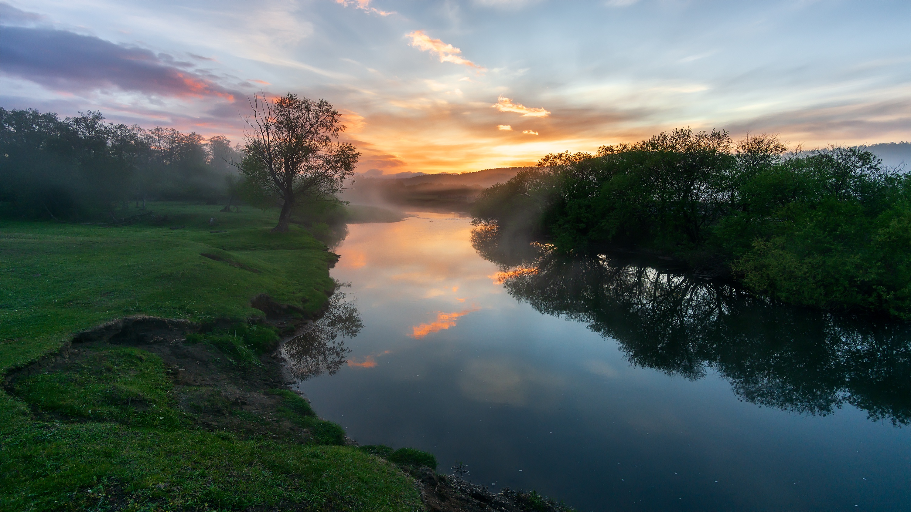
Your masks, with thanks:
[{"label": "calm river water mirroring sky and trees, reflections included", "polygon": [[361,444],[579,510],[907,510],[909,332],[459,214],[349,226],[287,356]]}]

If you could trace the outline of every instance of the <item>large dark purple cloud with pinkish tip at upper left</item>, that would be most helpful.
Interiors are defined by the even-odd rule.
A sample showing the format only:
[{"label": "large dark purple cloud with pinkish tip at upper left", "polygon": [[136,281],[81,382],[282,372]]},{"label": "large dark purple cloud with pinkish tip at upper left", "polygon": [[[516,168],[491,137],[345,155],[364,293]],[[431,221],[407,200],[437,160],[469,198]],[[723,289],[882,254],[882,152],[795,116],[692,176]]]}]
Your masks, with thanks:
[{"label": "large dark purple cloud with pinkish tip at upper left", "polygon": [[170,55],[50,28],[3,27],[0,62],[4,75],[67,92],[117,87],[147,95],[214,96],[231,102],[241,94]]}]

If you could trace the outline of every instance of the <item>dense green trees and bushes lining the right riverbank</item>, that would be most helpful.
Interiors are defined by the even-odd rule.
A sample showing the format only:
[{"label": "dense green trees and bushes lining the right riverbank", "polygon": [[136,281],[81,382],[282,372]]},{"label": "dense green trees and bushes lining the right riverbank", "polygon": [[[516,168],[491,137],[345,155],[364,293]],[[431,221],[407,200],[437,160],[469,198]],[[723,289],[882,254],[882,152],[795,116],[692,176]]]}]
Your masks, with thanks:
[{"label": "dense green trees and bushes lining the right riverbank", "polygon": [[681,128],[545,156],[473,214],[563,251],[636,248],[787,303],[909,317],[911,177],[862,148]]}]

